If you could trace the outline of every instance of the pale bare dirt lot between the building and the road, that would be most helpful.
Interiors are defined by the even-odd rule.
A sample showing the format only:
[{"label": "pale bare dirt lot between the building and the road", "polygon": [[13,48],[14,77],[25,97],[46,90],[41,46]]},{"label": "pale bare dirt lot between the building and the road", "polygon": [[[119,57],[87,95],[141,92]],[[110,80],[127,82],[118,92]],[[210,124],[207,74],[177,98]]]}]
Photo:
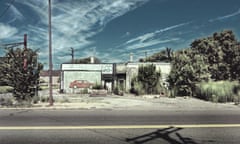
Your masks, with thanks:
[{"label": "pale bare dirt lot between the building and the road", "polygon": [[[90,97],[88,95],[61,95],[56,99],[53,109],[123,109],[123,110],[215,110],[239,109],[233,103],[212,103],[191,97],[154,97],[154,96],[116,96]],[[35,108],[46,108],[47,103],[38,103]],[[47,107],[49,108],[49,107]]]}]

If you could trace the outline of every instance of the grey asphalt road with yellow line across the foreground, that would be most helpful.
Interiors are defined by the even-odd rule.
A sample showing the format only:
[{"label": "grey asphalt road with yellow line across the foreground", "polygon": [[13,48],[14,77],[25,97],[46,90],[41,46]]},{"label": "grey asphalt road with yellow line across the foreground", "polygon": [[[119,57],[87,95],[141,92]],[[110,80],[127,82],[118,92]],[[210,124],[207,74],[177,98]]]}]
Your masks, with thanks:
[{"label": "grey asphalt road with yellow line across the foreground", "polygon": [[0,110],[0,144],[238,144],[239,133],[238,110]]}]

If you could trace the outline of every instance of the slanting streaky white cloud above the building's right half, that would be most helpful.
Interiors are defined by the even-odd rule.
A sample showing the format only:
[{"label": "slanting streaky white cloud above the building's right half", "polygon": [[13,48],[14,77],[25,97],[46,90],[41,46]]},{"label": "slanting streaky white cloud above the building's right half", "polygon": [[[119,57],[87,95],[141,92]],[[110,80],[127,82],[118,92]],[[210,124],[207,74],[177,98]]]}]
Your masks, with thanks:
[{"label": "slanting streaky white cloud above the building's right half", "polygon": [[[134,59],[138,60],[139,58],[145,56],[145,52],[149,55],[158,52],[172,43],[182,41],[179,38],[179,33],[182,32],[182,27],[191,24],[192,22],[180,23],[172,26],[168,26],[162,29],[155,30],[153,32],[145,33],[139,35],[135,38],[129,39],[126,42],[118,45],[113,51],[118,53],[115,58],[116,61],[128,61],[129,53],[134,53]],[[179,30],[175,30],[179,28]],[[172,32],[172,30],[175,30]],[[171,32],[168,32],[171,31]]]}]

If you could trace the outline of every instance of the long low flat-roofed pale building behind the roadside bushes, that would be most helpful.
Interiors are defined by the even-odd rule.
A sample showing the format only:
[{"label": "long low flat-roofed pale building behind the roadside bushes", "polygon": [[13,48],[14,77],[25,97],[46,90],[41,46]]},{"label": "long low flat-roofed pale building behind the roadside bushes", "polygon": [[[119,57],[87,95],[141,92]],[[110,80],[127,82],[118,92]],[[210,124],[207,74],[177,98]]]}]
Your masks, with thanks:
[{"label": "long low flat-roofed pale building behind the roadside bushes", "polygon": [[140,66],[154,64],[161,71],[162,80],[166,81],[170,73],[170,63],[105,63],[105,64],[62,64],[60,89],[65,93],[73,93],[70,87],[73,81],[88,81],[101,84],[109,92],[118,86],[125,92],[131,89],[131,80],[138,74]]}]

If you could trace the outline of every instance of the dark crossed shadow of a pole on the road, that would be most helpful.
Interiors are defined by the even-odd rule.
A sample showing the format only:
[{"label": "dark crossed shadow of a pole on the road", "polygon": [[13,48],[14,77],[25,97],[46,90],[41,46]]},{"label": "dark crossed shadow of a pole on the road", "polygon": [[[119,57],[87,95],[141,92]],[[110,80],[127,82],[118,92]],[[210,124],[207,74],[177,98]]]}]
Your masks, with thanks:
[{"label": "dark crossed shadow of a pole on the road", "polygon": [[[126,138],[126,142],[135,143],[135,144],[144,144],[149,141],[156,139],[163,139],[170,144],[197,144],[193,139],[188,137],[183,137],[177,131],[180,131],[183,128],[169,127],[165,129],[158,129],[154,132],[147,133],[141,136]],[[170,134],[175,134],[177,137],[172,138]]]}]

